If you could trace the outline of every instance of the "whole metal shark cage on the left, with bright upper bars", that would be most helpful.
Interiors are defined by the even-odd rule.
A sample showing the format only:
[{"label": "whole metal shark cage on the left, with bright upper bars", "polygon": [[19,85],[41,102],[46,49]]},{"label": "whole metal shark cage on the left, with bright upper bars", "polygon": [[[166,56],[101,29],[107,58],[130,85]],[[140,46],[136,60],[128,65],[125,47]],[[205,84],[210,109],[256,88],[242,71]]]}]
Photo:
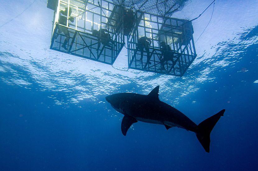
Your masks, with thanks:
[{"label": "whole metal shark cage on the left, with bright upper bars", "polygon": [[[108,0],[48,0],[48,8],[54,10],[50,49],[114,63],[124,46],[123,26],[115,26],[120,17],[115,4]],[[63,15],[67,22],[60,22]]]}]

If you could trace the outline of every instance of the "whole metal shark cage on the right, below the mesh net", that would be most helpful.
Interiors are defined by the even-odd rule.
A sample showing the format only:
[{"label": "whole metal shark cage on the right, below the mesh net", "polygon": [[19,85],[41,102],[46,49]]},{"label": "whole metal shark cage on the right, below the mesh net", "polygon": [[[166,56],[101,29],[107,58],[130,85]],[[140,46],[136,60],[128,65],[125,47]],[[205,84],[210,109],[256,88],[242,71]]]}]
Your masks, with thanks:
[{"label": "whole metal shark cage on the right, below the mesh net", "polygon": [[[134,29],[127,38],[128,68],[160,74],[182,76],[196,58],[191,22],[136,11]],[[141,59],[139,38],[150,38]],[[170,46],[170,60],[162,61],[161,42]],[[149,57],[149,58],[148,58]]]}]

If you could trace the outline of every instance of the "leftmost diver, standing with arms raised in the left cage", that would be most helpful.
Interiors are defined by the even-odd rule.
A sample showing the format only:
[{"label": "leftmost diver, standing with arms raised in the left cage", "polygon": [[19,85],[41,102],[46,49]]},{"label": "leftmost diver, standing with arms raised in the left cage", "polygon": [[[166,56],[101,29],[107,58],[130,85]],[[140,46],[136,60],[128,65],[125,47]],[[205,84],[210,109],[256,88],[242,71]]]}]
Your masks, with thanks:
[{"label": "leftmost diver, standing with arms raised in the left cage", "polygon": [[[68,11],[68,8],[66,7],[65,11],[60,11],[59,12],[58,23],[62,24],[64,26],[67,25],[67,21],[68,20],[70,20],[72,23],[74,22],[74,18],[70,16],[71,13],[72,13],[72,9],[69,8],[69,15],[68,16],[70,16],[70,17],[68,19],[67,19],[67,11]],[[62,26],[58,27],[58,33],[61,34],[62,32],[66,36],[66,39],[64,40],[64,43],[62,44],[62,48],[64,48],[65,50],[68,50],[67,47],[66,47],[66,44],[69,42],[70,33],[69,33],[69,31],[68,31],[68,29],[66,27],[62,27]],[[58,34],[55,35],[55,39],[57,39],[57,37],[58,37]]]}]

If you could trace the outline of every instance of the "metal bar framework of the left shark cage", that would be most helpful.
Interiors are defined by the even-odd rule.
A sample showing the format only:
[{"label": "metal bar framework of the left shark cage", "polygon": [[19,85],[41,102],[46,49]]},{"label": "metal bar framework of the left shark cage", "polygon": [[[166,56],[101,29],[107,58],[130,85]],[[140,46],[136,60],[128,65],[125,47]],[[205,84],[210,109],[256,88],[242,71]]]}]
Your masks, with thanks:
[{"label": "metal bar framework of the left shark cage", "polygon": [[[67,1],[67,2],[66,2]],[[72,5],[70,2],[74,1],[74,2],[80,2],[80,3],[84,3],[85,4],[85,8],[84,9],[80,9],[81,11],[83,11],[83,16],[84,19],[84,27],[78,26],[78,20],[79,20],[79,15],[74,17],[75,19],[75,24],[71,24],[69,23],[69,13],[67,12],[67,20],[68,22],[66,22],[66,25],[62,25],[60,23],[58,23],[58,18],[59,18],[59,13],[60,13],[60,6],[61,3],[66,4],[67,5],[67,11],[69,11],[70,8],[76,8],[76,14],[78,14],[78,6]],[[98,3],[99,4],[98,4]],[[105,5],[107,4],[107,8],[105,8],[102,3],[105,3]],[[101,8],[99,7],[99,5],[101,6]],[[88,6],[93,6],[94,8],[99,10],[99,13],[96,13],[94,10],[92,9],[87,9]],[[97,62],[102,62],[105,64],[109,64],[109,65],[113,65],[113,63],[115,62],[116,58],[118,57],[119,53],[121,52],[122,48],[125,45],[125,41],[124,41],[124,36],[123,36],[123,25],[121,24],[120,28],[114,28],[115,26],[112,25],[112,22],[114,23],[114,21],[116,20],[116,9],[117,9],[117,5],[115,5],[114,3],[108,1],[108,0],[57,0],[57,6],[56,6],[56,10],[54,11],[54,18],[53,18],[53,28],[52,28],[52,35],[51,35],[51,44],[50,44],[50,49],[53,50],[57,50],[59,52],[63,52],[63,53],[68,53],[71,55],[75,55],[75,56],[79,56],[82,58],[86,58],[86,59],[90,59],[90,60],[94,60]],[[52,7],[53,8],[53,7]],[[105,12],[107,13],[107,15],[105,14]],[[91,21],[91,28],[87,29],[86,28],[86,15],[90,14],[92,16],[92,21]],[[108,15],[110,14],[110,15]],[[105,29],[107,30],[108,34],[111,36],[112,41],[110,41],[111,43],[111,48],[109,48],[108,46],[110,46],[110,43],[108,43],[108,45],[104,45],[102,43],[100,43],[100,47],[97,49],[97,54],[94,55],[94,52],[92,52],[88,47],[89,46],[96,46],[96,43],[92,44],[92,41],[98,41],[99,42],[99,38],[100,36],[96,36],[93,35],[93,30],[94,30],[94,26],[96,25],[95,21],[94,21],[94,15],[96,15],[97,17],[99,17],[99,32],[101,34],[102,30]],[[113,18],[115,17],[115,19]],[[95,17],[96,18],[96,17]],[[106,22],[104,22],[104,20],[106,20]],[[95,24],[95,25],[94,25]],[[69,36],[66,36],[64,34],[60,34],[58,32],[59,28],[63,28],[65,27],[68,32],[69,32]],[[70,36],[72,34],[72,36]],[[55,41],[56,40],[56,35],[60,35],[60,41]],[[69,37],[69,42],[67,43],[67,50],[62,49],[61,46],[61,37]],[[90,37],[91,39],[93,39],[92,41],[90,41],[90,45],[87,45],[87,43],[85,42],[84,38]],[[77,37],[80,37],[83,44],[79,44],[77,41]],[[89,39],[90,39],[89,38]],[[104,38],[103,38],[104,39]],[[56,46],[54,46],[55,43],[59,43],[59,48],[56,48]],[[90,53],[89,55],[85,55],[84,51],[82,53],[74,53],[75,51],[78,51],[80,49],[72,49],[72,47],[74,45],[81,45],[84,46],[80,49],[86,49],[88,48]],[[94,49],[94,48],[93,48]],[[96,48],[95,48],[96,49]],[[106,51],[108,51],[110,54],[107,54]],[[94,58],[92,58],[92,56],[94,56]],[[95,56],[97,56],[95,58]],[[101,60],[100,60],[100,56],[101,56]],[[105,60],[107,58],[110,58],[109,60]]]}]

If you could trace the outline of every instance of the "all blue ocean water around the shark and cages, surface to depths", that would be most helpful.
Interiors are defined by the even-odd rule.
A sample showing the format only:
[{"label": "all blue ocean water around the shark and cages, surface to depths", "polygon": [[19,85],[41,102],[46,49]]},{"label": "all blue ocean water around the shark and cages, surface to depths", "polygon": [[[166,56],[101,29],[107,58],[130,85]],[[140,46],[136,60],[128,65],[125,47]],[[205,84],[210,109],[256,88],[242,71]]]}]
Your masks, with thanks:
[{"label": "all blue ocean water around the shark and cages, surface to depths", "polygon": [[[173,17],[193,19],[210,3],[190,0]],[[0,4],[1,171],[257,170],[257,0],[215,1],[202,35],[213,6],[193,21],[198,56],[183,77],[50,50],[46,0]],[[126,55],[115,68],[127,69]],[[105,96],[148,94],[157,85],[160,100],[196,124],[226,109],[210,153],[180,128],[137,122],[122,135],[123,115]]]}]

